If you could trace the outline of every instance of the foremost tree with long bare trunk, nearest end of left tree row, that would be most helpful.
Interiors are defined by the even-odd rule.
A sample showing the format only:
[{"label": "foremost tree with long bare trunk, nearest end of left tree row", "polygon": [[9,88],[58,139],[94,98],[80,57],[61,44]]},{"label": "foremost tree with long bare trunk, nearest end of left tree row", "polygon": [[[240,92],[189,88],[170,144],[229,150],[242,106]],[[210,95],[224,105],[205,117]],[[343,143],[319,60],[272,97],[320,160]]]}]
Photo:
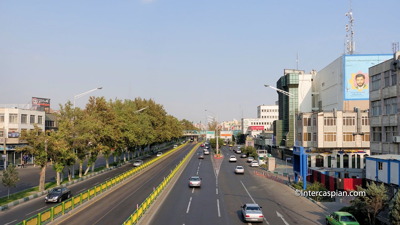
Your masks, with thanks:
[{"label": "foremost tree with long bare trunk, nearest end of left tree row", "polygon": [[39,191],[44,191],[44,180],[46,177],[47,160],[53,157],[53,139],[48,134],[50,131],[43,132],[40,127],[34,125],[30,131],[22,131],[20,139],[28,143],[27,146],[17,147],[16,152],[26,152],[35,156],[34,163],[39,166],[40,179]]}]

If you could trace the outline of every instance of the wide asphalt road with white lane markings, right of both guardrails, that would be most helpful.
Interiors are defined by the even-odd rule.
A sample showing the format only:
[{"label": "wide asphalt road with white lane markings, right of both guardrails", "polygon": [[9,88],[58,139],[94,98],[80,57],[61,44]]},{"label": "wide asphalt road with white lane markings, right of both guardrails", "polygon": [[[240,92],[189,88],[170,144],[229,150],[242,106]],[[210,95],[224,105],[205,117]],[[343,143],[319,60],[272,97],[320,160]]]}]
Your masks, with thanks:
[{"label": "wide asphalt road with white lane markings, right of both guardrails", "polygon": [[[270,225],[322,224],[325,211],[307,199],[294,196],[294,191],[276,181],[253,175],[246,159],[222,147],[222,161],[218,179],[210,157],[198,159],[195,154],[182,172],[160,208],[148,224],[243,224],[240,206],[256,203],[262,207],[264,223]],[[230,163],[230,155],[238,161]],[[234,173],[242,165],[244,175]],[[189,188],[188,178],[202,178],[201,188]],[[252,224],[252,223],[248,223]]]}]

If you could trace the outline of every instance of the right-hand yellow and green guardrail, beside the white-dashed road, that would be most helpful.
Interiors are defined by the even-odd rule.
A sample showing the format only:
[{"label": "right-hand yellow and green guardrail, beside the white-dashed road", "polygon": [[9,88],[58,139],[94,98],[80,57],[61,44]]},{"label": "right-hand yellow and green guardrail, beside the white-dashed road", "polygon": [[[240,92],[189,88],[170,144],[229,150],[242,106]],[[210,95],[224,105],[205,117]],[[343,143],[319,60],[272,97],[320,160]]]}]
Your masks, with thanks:
[{"label": "right-hand yellow and green guardrail, beside the white-dashed road", "polygon": [[160,195],[162,190],[164,190],[167,184],[171,181],[172,177],[174,177],[176,173],[178,173],[179,169],[183,166],[186,160],[189,159],[190,155],[192,155],[192,153],[196,151],[196,149],[200,146],[200,144],[201,143],[198,143],[188,153],[188,155],[186,155],[186,157],[178,164],[177,167],[175,167],[175,169],[172,170],[172,172],[164,179],[164,181],[162,181],[160,185],[158,185],[158,187],[154,189],[154,191],[149,195],[149,197],[147,197],[146,200],[144,200],[141,205],[138,205],[137,209],[132,213],[132,215],[130,215],[128,219],[126,219],[126,221],[122,225],[134,225],[138,223],[139,219],[143,216],[144,212],[148,210],[148,207],[154,202],[154,200],[158,197],[158,195]]}]

